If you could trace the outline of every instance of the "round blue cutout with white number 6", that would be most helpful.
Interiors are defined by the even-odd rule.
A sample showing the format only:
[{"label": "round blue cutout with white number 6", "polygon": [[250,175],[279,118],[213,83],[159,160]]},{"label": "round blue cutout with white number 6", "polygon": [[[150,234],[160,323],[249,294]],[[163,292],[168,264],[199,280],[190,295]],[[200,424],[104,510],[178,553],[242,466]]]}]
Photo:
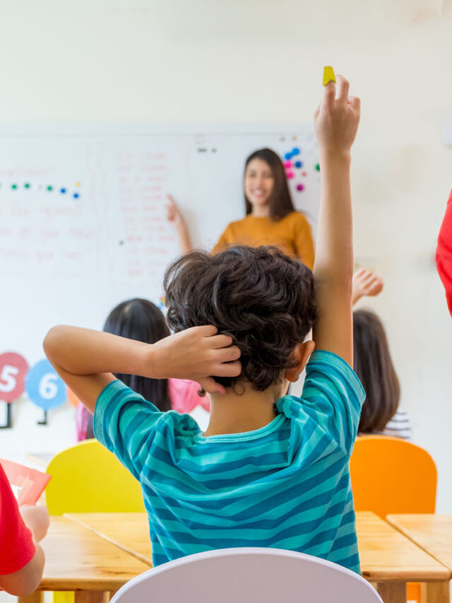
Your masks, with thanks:
[{"label": "round blue cutout with white number 6", "polygon": [[30,400],[44,411],[61,406],[67,399],[66,384],[47,359],[30,369],[25,390]]}]

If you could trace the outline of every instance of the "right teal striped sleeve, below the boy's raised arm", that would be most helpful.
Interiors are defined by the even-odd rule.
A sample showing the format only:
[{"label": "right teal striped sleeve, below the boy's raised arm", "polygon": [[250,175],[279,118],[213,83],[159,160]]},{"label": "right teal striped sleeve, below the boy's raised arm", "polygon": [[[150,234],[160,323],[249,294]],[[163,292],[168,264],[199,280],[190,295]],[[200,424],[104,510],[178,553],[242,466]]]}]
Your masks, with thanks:
[{"label": "right teal striped sleeve, below the boy's raised arm", "polygon": [[333,352],[314,351],[306,366],[303,411],[346,452],[352,453],[366,394],[357,374]]}]

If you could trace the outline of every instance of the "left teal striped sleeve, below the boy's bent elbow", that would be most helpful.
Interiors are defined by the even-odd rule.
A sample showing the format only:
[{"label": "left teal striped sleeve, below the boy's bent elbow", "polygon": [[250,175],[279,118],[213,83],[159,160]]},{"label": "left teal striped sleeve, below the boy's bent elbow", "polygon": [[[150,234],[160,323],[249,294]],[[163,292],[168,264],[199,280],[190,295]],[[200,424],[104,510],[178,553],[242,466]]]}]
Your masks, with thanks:
[{"label": "left teal striped sleeve, below the boy's bent elbow", "polygon": [[97,399],[94,434],[140,479],[157,424],[165,414],[118,379],[109,383]]}]

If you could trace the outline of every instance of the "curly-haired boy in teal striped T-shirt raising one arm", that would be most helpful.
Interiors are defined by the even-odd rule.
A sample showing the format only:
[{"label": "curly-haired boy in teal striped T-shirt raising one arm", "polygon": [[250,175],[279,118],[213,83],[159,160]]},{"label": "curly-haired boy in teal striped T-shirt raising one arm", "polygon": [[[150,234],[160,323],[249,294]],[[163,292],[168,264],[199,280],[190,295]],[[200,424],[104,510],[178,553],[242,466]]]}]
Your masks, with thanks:
[{"label": "curly-haired boy in teal striped T-shirt raising one arm", "polygon": [[[59,375],[95,411],[96,437],[141,481],[155,566],[269,546],[359,571],[349,469],[364,400],[351,368],[350,149],[359,99],[337,80],[314,115],[315,283],[309,268],[274,248],[193,252],[165,276],[174,335],[146,345],[54,327],[44,340]],[[285,395],[305,365],[302,397]],[[208,429],[158,411],[112,373],[198,381],[211,394]]]}]

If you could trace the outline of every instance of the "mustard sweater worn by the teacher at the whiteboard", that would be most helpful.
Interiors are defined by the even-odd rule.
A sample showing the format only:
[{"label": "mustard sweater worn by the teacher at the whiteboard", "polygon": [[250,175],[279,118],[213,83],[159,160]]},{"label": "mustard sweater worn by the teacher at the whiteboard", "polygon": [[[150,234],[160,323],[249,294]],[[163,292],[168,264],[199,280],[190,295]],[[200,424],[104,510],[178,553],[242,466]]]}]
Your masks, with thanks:
[{"label": "mustard sweater worn by the teacher at the whiteboard", "polygon": [[213,253],[231,245],[275,245],[290,257],[301,259],[310,269],[314,266],[311,226],[298,211],[292,211],[279,221],[249,214],[242,220],[231,222],[213,248]]}]

